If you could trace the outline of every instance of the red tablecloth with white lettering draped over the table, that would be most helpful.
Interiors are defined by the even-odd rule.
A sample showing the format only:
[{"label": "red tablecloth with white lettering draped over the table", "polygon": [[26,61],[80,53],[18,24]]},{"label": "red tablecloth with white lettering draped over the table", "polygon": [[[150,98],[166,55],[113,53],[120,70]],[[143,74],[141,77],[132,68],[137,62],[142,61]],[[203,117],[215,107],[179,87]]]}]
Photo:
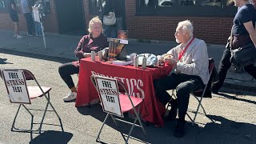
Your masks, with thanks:
[{"label": "red tablecloth with white lettering draped over the table", "polygon": [[83,58],[80,63],[78,79],[78,95],[75,106],[86,106],[89,102],[98,99],[97,90],[90,82],[91,74],[117,78],[125,83],[126,88],[133,96],[143,98],[141,117],[147,122],[163,126],[162,116],[165,107],[162,106],[154,94],[153,80],[166,77],[172,66],[159,66],[155,68],[118,66],[107,62],[92,62],[90,58]]}]

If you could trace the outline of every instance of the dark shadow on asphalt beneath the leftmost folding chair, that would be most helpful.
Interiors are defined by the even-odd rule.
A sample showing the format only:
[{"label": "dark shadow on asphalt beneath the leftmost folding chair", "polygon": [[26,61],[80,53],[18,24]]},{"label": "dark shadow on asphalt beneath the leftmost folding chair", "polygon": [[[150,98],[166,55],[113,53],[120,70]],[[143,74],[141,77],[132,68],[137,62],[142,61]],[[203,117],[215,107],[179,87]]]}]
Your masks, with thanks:
[{"label": "dark shadow on asphalt beneath the leftmost folding chair", "polygon": [[32,139],[30,144],[43,144],[43,143],[68,143],[73,137],[73,134],[62,131],[49,130],[38,135],[38,137]]}]

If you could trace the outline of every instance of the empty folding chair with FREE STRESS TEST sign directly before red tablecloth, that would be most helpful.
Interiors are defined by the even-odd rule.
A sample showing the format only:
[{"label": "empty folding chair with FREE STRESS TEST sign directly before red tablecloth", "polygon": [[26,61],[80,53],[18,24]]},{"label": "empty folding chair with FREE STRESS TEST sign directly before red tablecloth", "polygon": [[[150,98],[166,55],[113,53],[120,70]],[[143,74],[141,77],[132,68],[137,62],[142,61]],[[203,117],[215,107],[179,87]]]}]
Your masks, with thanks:
[{"label": "empty folding chair with FREE STRESS TEST sign directly before red tablecloth", "polygon": [[[146,135],[146,131],[142,125],[141,119],[139,118],[139,114],[138,114],[139,112],[138,105],[142,102],[142,98],[131,97],[130,94],[128,94],[128,91],[126,90],[126,86],[123,84],[123,82],[120,82],[117,79],[102,77],[98,75],[91,75],[90,79],[91,79],[91,82],[93,82],[95,88],[98,90],[98,95],[102,103],[102,109],[104,112],[107,113],[106,118],[104,119],[104,122],[102,124],[102,127],[98,132],[96,142],[102,142],[99,136],[109,116],[113,119],[116,126],[118,126],[118,123],[116,122],[116,120],[119,122],[125,122],[127,124],[132,125],[127,138],[124,138],[126,143],[128,143],[130,134],[134,129],[134,126],[141,127],[143,130],[143,133]],[[125,94],[122,94],[122,93],[119,94],[118,88],[124,90]],[[138,110],[136,110],[135,108],[136,106],[138,106]],[[134,114],[136,115],[136,118],[134,118],[133,123],[114,117],[114,115],[116,115],[118,117],[123,118],[123,113],[129,110],[134,110]],[[139,124],[136,124],[137,120]]]}]

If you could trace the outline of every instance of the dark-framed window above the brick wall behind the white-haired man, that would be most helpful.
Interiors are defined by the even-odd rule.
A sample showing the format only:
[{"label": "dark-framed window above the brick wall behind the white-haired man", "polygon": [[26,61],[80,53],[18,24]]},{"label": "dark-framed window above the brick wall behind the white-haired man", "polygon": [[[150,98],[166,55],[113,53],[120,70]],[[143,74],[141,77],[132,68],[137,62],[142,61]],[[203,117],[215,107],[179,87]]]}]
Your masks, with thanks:
[{"label": "dark-framed window above the brick wall behind the white-haired man", "polygon": [[137,0],[137,15],[234,16],[233,0]]}]

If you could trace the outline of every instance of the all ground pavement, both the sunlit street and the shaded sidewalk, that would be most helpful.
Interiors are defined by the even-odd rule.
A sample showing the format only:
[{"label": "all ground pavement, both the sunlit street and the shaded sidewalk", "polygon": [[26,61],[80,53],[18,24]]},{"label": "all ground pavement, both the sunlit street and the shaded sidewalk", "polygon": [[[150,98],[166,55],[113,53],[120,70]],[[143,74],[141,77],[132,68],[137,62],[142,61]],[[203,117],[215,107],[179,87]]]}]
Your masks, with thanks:
[{"label": "all ground pavement, both the sunlit street and the shaded sidewalk", "polygon": [[[102,112],[99,105],[91,108],[75,108],[74,102],[63,102],[62,97],[69,90],[57,72],[58,66],[62,63],[76,60],[74,49],[81,36],[46,33],[45,49],[42,37],[25,36],[25,38],[16,39],[12,38],[12,35],[11,30],[0,30],[0,69],[26,68],[32,70],[43,85],[52,86],[51,100],[62,118],[65,133],[61,133],[58,126],[45,126],[44,130],[48,131],[40,135],[32,134],[31,136],[11,132],[11,122],[18,106],[10,104],[6,98],[3,82],[0,81],[0,95],[2,95],[0,97],[0,114],[2,115],[0,143],[96,143],[98,129],[106,114]],[[131,39],[128,53],[163,54],[176,45],[176,42],[138,42]],[[218,66],[224,46],[207,45],[210,57],[214,58],[215,65]],[[76,77],[74,79],[77,81]],[[174,138],[172,130],[175,122],[166,122],[166,125],[160,128],[146,126],[147,136],[143,136],[141,130],[135,129],[130,143],[254,143],[256,140],[256,89],[254,88],[255,80],[250,75],[229,71],[221,93],[214,94],[213,98],[203,99],[208,118],[201,113],[198,115],[197,125],[191,126],[191,122],[188,121],[184,138]],[[34,106],[42,106],[42,102],[35,102]],[[189,114],[192,114],[191,110],[194,110],[195,106],[196,101],[190,98]],[[22,114],[26,113],[23,111]],[[38,112],[36,115],[39,115]],[[47,123],[58,124],[54,114],[50,114],[46,119]],[[25,117],[22,120],[22,123],[18,123],[19,126],[27,126]],[[121,127],[124,127],[127,134],[128,126]],[[108,122],[102,139],[110,143],[122,143],[122,136],[113,122]]]}]

